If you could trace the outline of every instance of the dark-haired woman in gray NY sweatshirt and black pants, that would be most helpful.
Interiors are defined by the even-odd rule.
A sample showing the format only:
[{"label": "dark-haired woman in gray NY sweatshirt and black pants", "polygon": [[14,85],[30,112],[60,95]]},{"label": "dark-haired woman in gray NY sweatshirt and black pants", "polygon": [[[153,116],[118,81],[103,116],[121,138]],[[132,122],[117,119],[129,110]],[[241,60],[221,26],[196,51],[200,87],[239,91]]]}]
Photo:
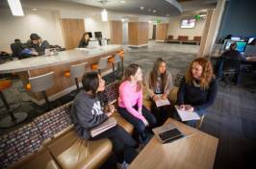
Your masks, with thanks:
[{"label": "dark-haired woman in gray NY sweatshirt and black pants", "polygon": [[76,96],[71,109],[71,117],[75,126],[75,133],[90,141],[109,138],[113,143],[113,149],[117,159],[117,169],[127,168],[128,164],[125,162],[123,156],[123,144],[138,149],[138,152],[140,152],[141,149],[140,144],[118,125],[115,125],[115,127],[104,133],[91,137],[90,129],[100,125],[108,119],[115,108],[113,105],[108,104],[104,92],[105,81],[99,74],[97,74],[97,72],[84,74],[82,84],[84,90]]}]

